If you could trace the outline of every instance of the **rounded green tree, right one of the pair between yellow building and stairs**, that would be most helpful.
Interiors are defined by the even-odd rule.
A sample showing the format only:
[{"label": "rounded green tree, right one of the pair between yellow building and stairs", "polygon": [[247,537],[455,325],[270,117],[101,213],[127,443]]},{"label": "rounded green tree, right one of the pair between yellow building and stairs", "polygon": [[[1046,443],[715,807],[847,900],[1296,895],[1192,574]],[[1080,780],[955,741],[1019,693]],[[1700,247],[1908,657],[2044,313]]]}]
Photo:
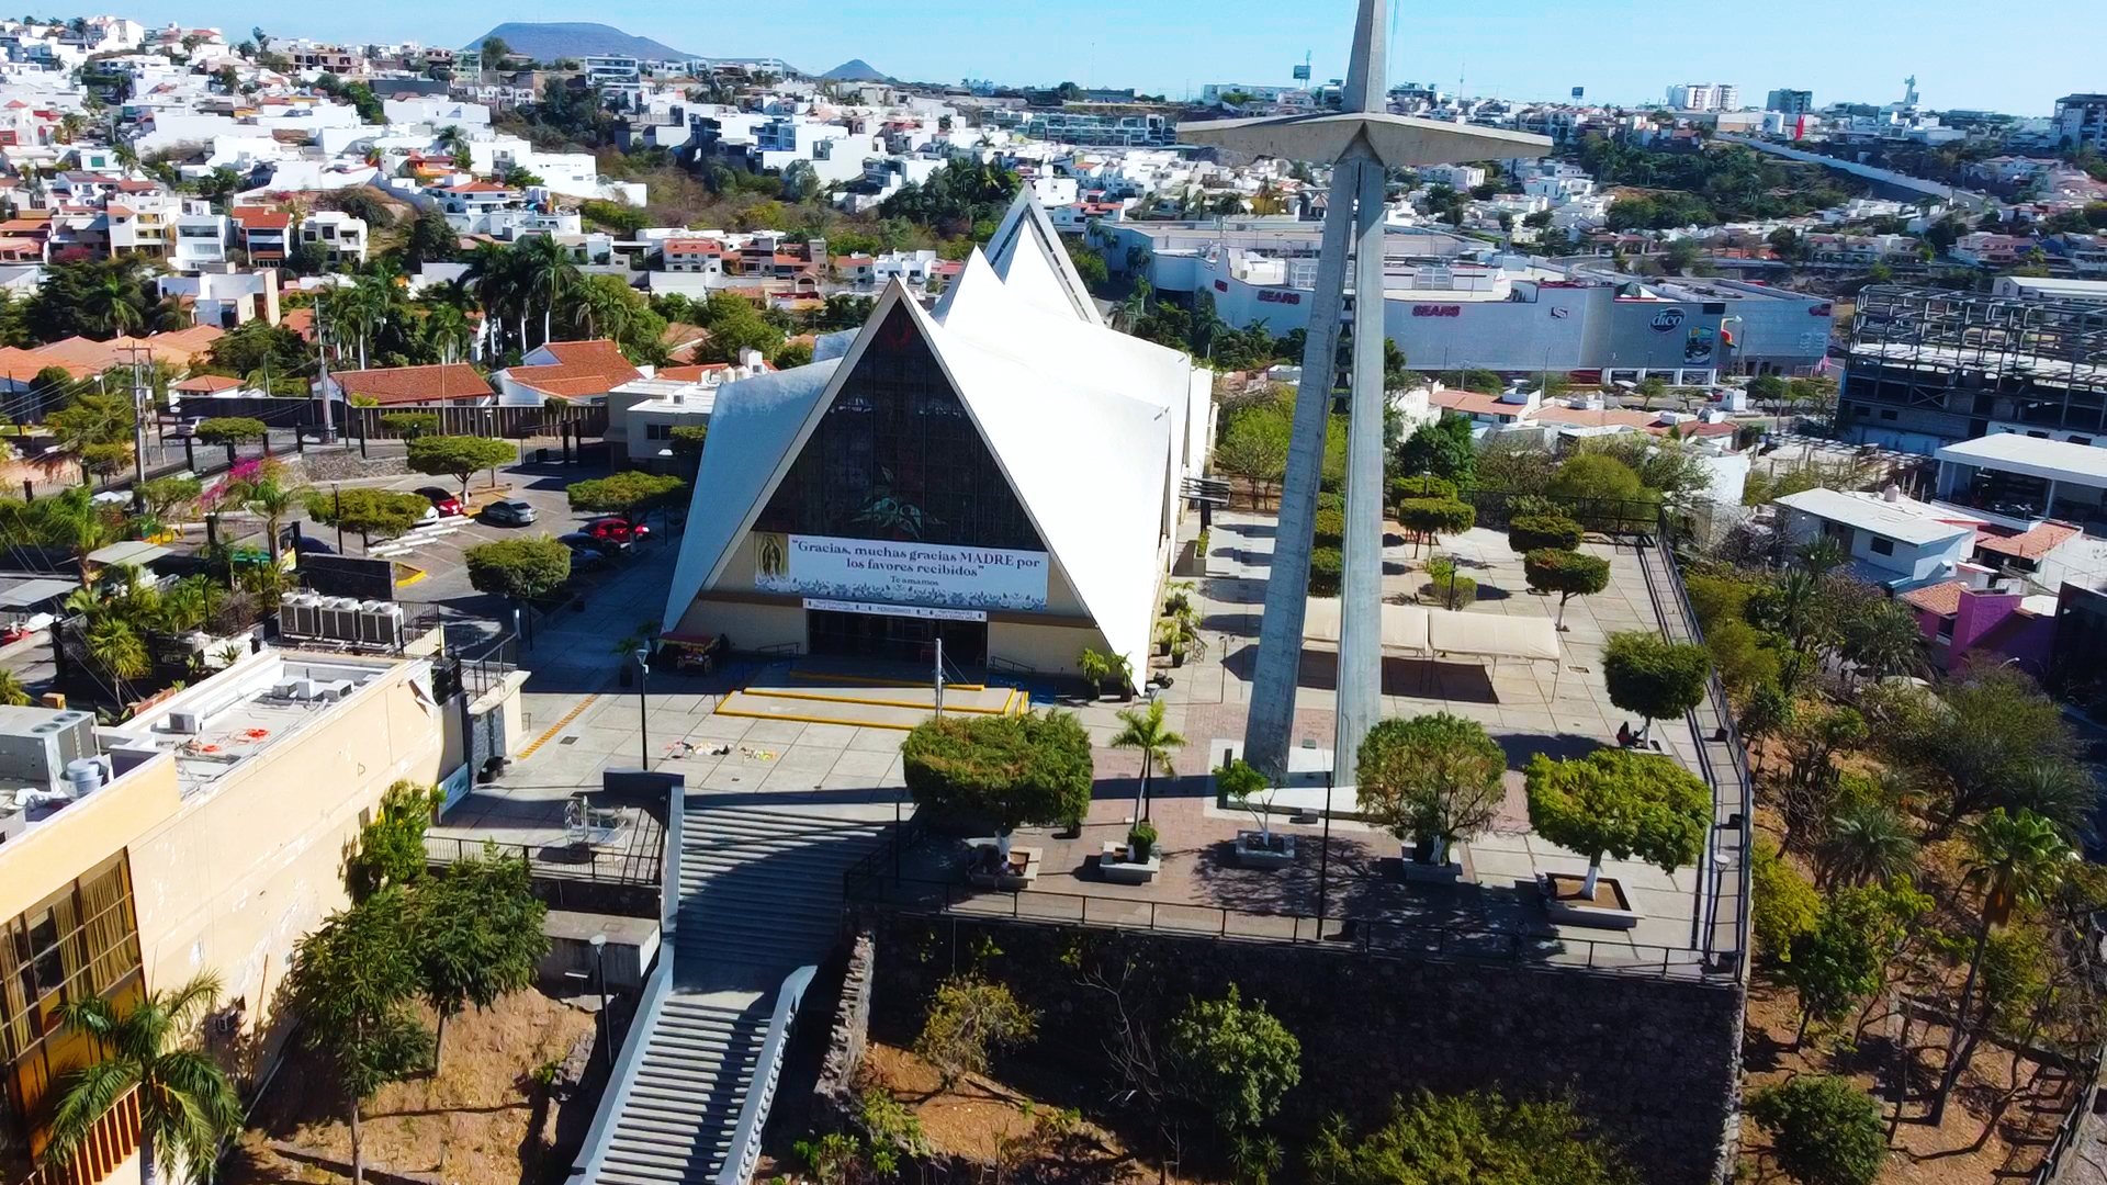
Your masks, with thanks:
[{"label": "rounded green tree, right one of the pair between yellow building and stairs", "polygon": [[470,1004],[480,1012],[533,985],[535,968],[548,955],[541,932],[548,907],[533,896],[527,858],[495,852],[428,877],[411,894],[411,905],[417,991],[438,1014],[432,1040],[436,1071],[449,1018]]}]

